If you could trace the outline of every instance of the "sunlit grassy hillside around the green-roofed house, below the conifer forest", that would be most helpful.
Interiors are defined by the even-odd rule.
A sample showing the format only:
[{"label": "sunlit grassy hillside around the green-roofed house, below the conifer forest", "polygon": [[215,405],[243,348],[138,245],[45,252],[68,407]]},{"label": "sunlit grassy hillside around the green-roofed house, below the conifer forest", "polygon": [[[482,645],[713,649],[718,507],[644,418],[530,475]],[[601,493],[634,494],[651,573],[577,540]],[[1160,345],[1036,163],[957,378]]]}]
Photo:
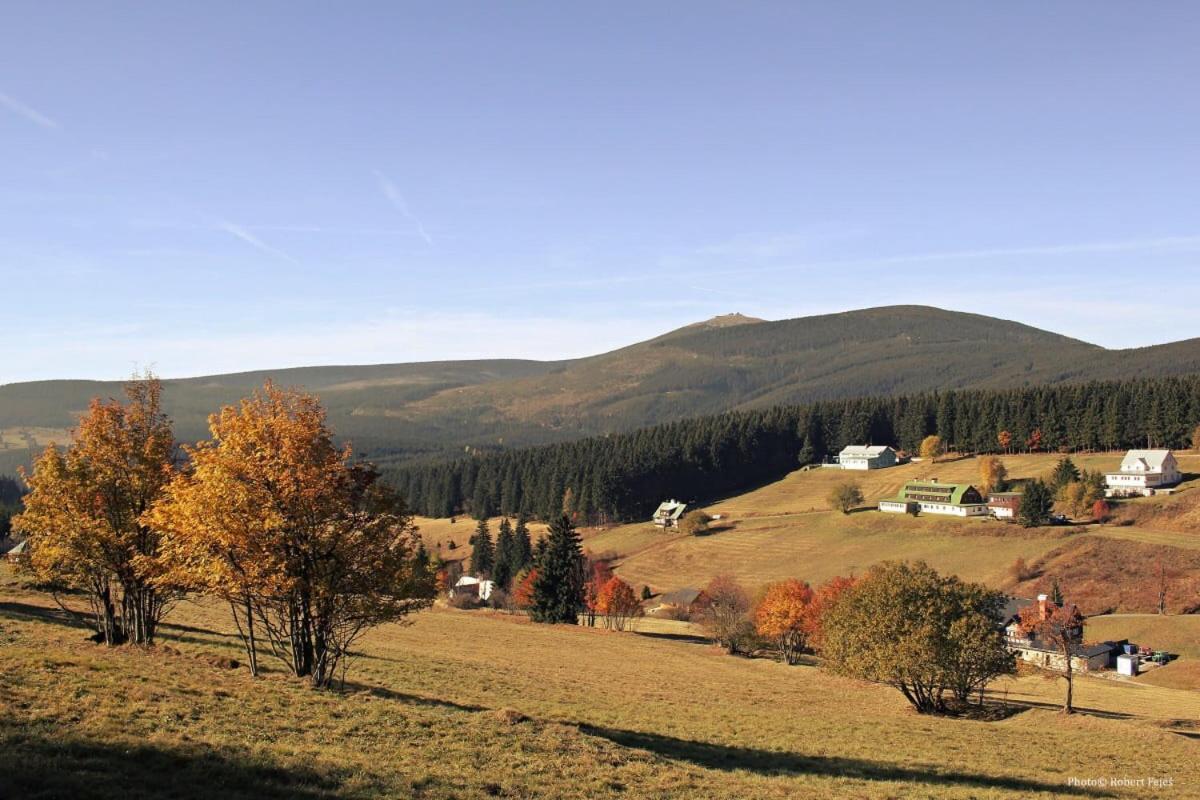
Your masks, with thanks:
[{"label": "sunlit grassy hillside around the green-roofed house, below the conifer forest", "polygon": [[[1048,474],[1057,458],[1021,455],[1003,461],[1010,477],[1025,479]],[[1081,468],[1104,470],[1115,468],[1120,455],[1082,455],[1074,456],[1074,461]],[[1200,456],[1180,453],[1180,462],[1184,473],[1200,473]],[[709,506],[709,513],[722,516],[716,533],[709,536],[679,536],[637,523],[587,531],[584,541],[594,553],[616,555],[618,572],[628,581],[656,591],[703,585],[722,572],[752,587],[786,577],[818,582],[862,572],[884,559],[924,559],[943,572],[1032,594],[1044,591],[1049,577],[1057,575],[1066,585],[1075,587],[1086,607],[1100,610],[1134,609],[1151,602],[1148,578],[1142,579],[1148,567],[1142,567],[1159,553],[1170,554],[1186,573],[1172,589],[1172,604],[1183,604],[1193,579],[1200,579],[1200,540],[1183,531],[1144,529],[1136,523],[1026,531],[990,519],[931,515],[912,518],[869,510],[845,516],[824,510],[829,491],[846,480],[857,481],[868,504],[874,505],[880,498],[893,497],[904,481],[931,476],[973,482],[978,462],[966,458],[916,463],[856,474],[835,469],[797,471]],[[1186,483],[1170,503],[1200,500],[1195,483]],[[1136,500],[1127,510],[1138,515],[1163,501]],[[1009,570],[1019,557],[1039,573],[1032,581],[1013,584]],[[1122,570],[1122,563],[1132,569]]]}]

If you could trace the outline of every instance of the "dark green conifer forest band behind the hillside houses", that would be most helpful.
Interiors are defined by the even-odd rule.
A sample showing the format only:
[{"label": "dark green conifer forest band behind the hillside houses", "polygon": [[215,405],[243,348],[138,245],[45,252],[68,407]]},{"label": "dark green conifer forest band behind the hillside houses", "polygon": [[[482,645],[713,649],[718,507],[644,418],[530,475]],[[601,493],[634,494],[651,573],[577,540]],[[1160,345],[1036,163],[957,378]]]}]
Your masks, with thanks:
[{"label": "dark green conifer forest band behind the hillside houses", "polygon": [[[959,390],[782,405],[540,447],[400,468],[420,513],[524,513],[602,523],[649,516],[665,497],[710,499],[776,480],[847,444],[936,458],[977,453],[1186,447],[1200,377]],[[936,439],[929,439],[936,437]]]}]

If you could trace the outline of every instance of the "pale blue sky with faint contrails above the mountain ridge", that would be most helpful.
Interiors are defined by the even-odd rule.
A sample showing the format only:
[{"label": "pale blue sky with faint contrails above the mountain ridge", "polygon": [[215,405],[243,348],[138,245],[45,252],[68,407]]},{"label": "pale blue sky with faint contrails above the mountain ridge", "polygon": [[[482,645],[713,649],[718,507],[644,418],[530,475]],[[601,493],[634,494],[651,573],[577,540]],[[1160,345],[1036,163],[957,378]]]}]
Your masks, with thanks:
[{"label": "pale blue sky with faint contrails above the mountain ridge", "polygon": [[1200,336],[1200,4],[0,6],[0,383]]}]

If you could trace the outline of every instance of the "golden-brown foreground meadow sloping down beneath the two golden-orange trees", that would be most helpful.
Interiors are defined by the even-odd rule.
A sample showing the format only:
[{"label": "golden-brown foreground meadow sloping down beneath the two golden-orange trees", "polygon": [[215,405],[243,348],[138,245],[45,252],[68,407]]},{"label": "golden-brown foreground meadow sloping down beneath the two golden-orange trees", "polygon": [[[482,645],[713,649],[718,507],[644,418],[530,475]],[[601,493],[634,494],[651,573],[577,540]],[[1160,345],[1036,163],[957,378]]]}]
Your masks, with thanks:
[{"label": "golden-brown foreground meadow sloping down beneath the two golden-orange trees", "polygon": [[[1025,676],[1003,722],[925,718],[893,690],[702,644],[434,610],[372,633],[346,694],[251,681],[222,609],[185,603],[154,652],[83,640],[0,585],[0,795],[1068,796],[1068,776],[1200,786],[1200,696]],[[529,717],[508,724],[496,714]],[[1034,746],[1036,745],[1036,746]],[[1098,793],[1080,792],[1085,796]],[[1134,796],[1116,790],[1117,796]],[[1170,795],[1168,795],[1170,796]]]}]

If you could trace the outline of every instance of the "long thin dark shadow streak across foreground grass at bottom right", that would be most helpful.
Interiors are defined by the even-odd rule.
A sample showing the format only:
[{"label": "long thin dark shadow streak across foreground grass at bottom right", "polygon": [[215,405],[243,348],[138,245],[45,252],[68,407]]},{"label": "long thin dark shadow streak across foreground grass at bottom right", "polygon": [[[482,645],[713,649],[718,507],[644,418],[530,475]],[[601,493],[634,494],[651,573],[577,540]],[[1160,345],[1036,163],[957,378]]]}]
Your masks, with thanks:
[{"label": "long thin dark shadow streak across foreground grass at bottom right", "polygon": [[714,770],[746,770],[760,775],[817,775],[859,781],[901,781],[941,787],[974,789],[1004,789],[1018,793],[1044,792],[1060,796],[1114,796],[1096,789],[1070,787],[1008,775],[980,775],[953,769],[922,769],[884,762],[836,756],[803,756],[800,753],[715,745],[707,741],[677,739],[660,734],[580,726],[586,734],[607,739],[622,747],[644,750],[672,760],[683,760]]}]

